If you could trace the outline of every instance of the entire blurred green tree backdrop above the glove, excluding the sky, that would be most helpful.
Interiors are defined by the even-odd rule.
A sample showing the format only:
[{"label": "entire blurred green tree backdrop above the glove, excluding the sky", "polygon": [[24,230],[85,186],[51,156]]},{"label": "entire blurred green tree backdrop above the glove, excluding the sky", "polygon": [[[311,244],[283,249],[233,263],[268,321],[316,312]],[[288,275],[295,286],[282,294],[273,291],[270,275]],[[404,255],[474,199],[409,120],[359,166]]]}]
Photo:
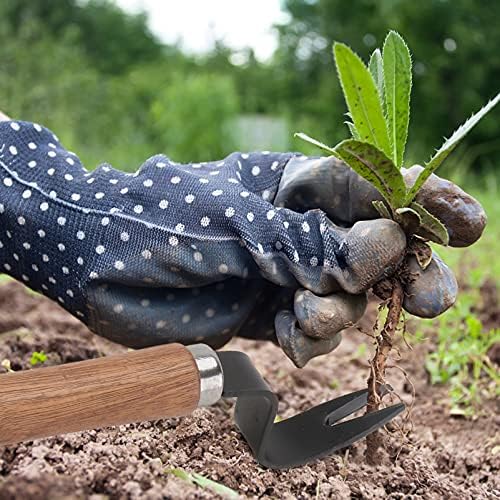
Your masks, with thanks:
[{"label": "entire blurred green tree backdrop above the glove, excluding the sky", "polygon": [[[221,42],[205,56],[185,55],[160,43],[144,14],[108,0],[2,0],[0,109],[51,127],[89,167],[135,170],[159,152],[176,161],[224,156],[238,149],[228,132],[238,114],[283,118],[287,146],[304,150],[296,130],[330,144],[347,136],[332,42],[367,58],[392,28],[414,53],[409,153],[422,161],[498,91],[494,0],[284,0],[283,9],[278,50],[263,64]],[[498,149],[490,117],[461,164],[493,171]]]}]

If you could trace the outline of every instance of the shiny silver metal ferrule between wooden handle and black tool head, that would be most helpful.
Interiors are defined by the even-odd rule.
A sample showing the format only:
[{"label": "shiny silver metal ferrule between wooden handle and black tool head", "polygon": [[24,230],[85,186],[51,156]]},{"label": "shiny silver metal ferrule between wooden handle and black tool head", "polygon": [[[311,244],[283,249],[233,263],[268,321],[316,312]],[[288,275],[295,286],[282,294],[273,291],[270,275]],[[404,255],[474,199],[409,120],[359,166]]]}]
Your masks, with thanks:
[{"label": "shiny silver metal ferrule between wooden handle and black tool head", "polygon": [[217,353],[205,344],[188,346],[200,372],[198,406],[210,406],[219,401],[224,388],[224,373]]}]

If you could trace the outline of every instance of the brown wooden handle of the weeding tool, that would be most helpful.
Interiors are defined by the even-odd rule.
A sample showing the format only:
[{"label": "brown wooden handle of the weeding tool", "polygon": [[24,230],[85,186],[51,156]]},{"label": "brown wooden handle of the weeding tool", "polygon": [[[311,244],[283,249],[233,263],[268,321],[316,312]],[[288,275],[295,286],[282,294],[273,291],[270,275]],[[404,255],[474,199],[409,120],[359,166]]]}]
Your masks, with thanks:
[{"label": "brown wooden handle of the weeding tool", "polygon": [[0,375],[0,444],[186,415],[199,397],[180,344]]}]

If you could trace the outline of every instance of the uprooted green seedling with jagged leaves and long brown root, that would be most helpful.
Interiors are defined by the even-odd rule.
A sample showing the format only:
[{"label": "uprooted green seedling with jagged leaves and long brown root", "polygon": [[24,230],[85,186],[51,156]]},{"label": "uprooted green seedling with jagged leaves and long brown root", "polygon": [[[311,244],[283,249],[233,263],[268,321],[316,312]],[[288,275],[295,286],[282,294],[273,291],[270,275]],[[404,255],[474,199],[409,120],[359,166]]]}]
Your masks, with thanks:
[{"label": "uprooted green seedling with jagged leaves and long brown root", "polygon": [[[429,213],[415,198],[425,181],[446,160],[468,132],[500,100],[497,94],[486,106],[472,115],[434,153],[411,186],[407,186],[401,168],[408,139],[412,61],[403,38],[395,31],[387,35],[382,51],[376,49],[368,65],[347,45],[333,46],[335,64],[344,98],[349,110],[346,122],[351,138],[335,147],[327,146],[303,133],[297,137],[327,151],[344,161],[380,193],[382,200],[374,201],[377,212],[398,222],[407,235],[408,253],[415,255],[425,269],[431,262],[429,241],[449,243],[445,226]],[[406,259],[405,259],[406,260]],[[404,265],[404,263],[403,263]],[[386,359],[392,348],[392,338],[401,322],[403,286],[400,269],[391,280],[388,294],[387,318],[379,335],[371,362],[368,380],[367,412],[380,404],[380,387],[384,383]],[[368,438],[367,458],[376,461],[380,436]]]}]

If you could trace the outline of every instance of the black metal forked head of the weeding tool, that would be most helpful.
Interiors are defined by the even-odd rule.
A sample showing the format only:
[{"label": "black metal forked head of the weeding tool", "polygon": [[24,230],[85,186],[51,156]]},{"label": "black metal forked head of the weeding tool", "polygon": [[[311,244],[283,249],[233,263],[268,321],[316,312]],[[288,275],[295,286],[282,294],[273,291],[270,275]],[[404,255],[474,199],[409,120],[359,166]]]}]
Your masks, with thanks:
[{"label": "black metal forked head of the weeding tool", "polygon": [[[327,401],[275,423],[278,398],[250,358],[241,352],[219,352],[224,374],[223,397],[237,398],[235,421],[257,461],[271,469],[304,465],[366,437],[400,414],[400,403],[339,422],[367,404],[367,390]],[[387,388],[384,389],[387,392]]]}]

